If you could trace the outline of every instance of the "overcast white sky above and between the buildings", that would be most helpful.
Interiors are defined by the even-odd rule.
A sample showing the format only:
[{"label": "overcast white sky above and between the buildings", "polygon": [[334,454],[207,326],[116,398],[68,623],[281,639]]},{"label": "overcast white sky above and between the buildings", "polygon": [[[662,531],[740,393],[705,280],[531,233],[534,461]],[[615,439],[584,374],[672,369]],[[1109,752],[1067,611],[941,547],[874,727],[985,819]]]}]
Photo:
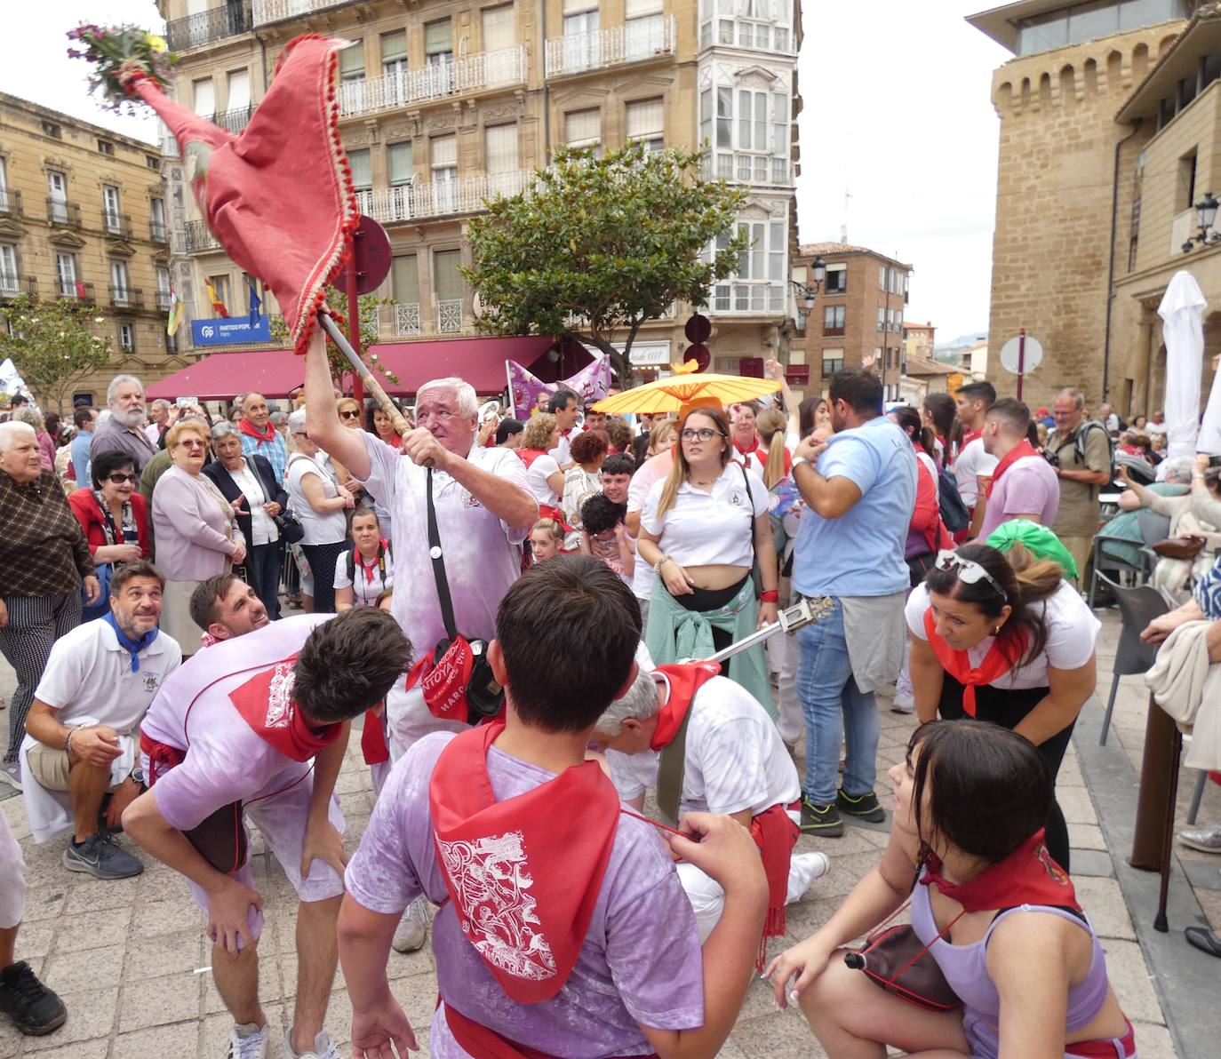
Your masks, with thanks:
[{"label": "overcast white sky above and between the buildings", "polygon": [[[532,0],[525,0],[532,2]],[[153,0],[7,0],[0,92],[128,135],[151,118],[103,111],[63,34],[85,21],[160,29]],[[907,320],[938,340],[988,327],[998,120],[991,72],[1009,52],[963,22],[988,0],[806,0],[797,217],[802,243],[869,246],[915,266]],[[845,192],[851,196],[846,200]]]}]

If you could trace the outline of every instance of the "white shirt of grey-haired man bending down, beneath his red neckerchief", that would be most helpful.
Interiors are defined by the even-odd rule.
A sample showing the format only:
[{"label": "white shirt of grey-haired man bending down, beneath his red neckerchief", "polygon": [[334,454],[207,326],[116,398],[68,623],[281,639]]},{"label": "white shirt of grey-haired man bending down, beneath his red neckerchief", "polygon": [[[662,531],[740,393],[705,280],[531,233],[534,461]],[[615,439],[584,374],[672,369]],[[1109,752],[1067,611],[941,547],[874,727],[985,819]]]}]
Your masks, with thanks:
[{"label": "white shirt of grey-haired man bending down, beneath his red neckerchief", "polygon": [[[667,686],[664,675],[653,678]],[[607,750],[610,780],[624,800],[657,788],[661,753]],[[741,813],[758,816],[801,797],[792,758],[767,711],[750,692],[713,677],[691,700],[680,813]]]}]

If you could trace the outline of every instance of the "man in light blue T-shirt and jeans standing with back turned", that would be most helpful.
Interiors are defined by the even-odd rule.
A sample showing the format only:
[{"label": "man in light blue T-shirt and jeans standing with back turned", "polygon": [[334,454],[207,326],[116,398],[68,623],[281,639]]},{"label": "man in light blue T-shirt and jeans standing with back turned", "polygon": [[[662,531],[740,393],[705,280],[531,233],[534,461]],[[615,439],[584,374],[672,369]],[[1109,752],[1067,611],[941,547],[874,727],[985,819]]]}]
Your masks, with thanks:
[{"label": "man in light blue T-shirt and jeans standing with back turned", "polygon": [[[838,372],[829,401],[835,433],[806,438],[792,476],[806,509],[794,549],[792,587],[825,598],[814,625],[797,632],[797,695],[806,719],[801,830],[844,833],[840,813],[880,821],[878,710],[873,693],[899,676],[904,545],[916,506],[916,454],[882,415],[883,389],[863,370]],[[841,733],[847,741],[842,788],[835,789]]]}]

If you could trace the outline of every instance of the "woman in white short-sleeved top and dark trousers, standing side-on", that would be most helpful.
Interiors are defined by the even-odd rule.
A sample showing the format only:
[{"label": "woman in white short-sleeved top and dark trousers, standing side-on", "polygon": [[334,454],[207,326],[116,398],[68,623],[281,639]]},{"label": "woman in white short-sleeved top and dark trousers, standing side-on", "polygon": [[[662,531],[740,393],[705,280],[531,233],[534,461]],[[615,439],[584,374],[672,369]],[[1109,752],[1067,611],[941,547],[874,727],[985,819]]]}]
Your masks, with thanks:
[{"label": "woman in white short-sleeved top and dark trousers, standing side-on", "polygon": [[346,512],[355,506],[355,498],[336,486],[315,462],[319,448],[306,433],[305,409],[297,409],[288,417],[288,431],[293,454],[288,458],[284,484],[292,509],[305,530],[300,548],[313,582],[308,584],[303,577],[302,603],[306,611],[330,614],[335,610],[335,564],[344,551],[348,534]]}]

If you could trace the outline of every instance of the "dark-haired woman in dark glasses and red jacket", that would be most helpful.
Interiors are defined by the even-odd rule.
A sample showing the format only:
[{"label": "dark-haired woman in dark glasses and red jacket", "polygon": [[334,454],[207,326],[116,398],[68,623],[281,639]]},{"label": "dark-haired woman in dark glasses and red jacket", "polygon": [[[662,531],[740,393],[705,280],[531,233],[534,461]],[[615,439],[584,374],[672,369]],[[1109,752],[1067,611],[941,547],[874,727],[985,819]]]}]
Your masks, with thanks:
[{"label": "dark-haired woman in dark glasses and red jacket", "polygon": [[[98,577],[110,583],[110,570],[120,562],[148,559],[149,523],[148,504],[136,490],[139,475],[127,453],[99,453],[90,467],[93,488],[84,486],[68,494],[68,506],[84,530],[89,551],[93,554]],[[81,614],[82,621],[92,621],[110,614],[110,594]]]}]

